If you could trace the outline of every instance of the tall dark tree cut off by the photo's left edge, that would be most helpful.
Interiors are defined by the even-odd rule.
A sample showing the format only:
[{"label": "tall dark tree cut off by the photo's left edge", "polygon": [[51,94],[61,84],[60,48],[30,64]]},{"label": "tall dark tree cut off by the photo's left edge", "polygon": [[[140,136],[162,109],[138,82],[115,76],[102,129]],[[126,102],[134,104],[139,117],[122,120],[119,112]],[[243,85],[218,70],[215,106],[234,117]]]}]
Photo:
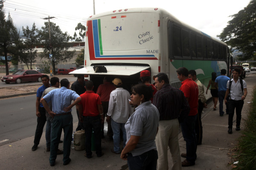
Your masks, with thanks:
[{"label": "tall dark tree cut off by the photo's left edge", "polygon": [[5,19],[3,2],[4,0],[0,0],[0,52],[4,54],[6,75],[9,75],[7,53],[12,53],[10,48],[19,42],[20,37],[17,28],[13,24],[11,15],[8,15],[7,20]]}]

